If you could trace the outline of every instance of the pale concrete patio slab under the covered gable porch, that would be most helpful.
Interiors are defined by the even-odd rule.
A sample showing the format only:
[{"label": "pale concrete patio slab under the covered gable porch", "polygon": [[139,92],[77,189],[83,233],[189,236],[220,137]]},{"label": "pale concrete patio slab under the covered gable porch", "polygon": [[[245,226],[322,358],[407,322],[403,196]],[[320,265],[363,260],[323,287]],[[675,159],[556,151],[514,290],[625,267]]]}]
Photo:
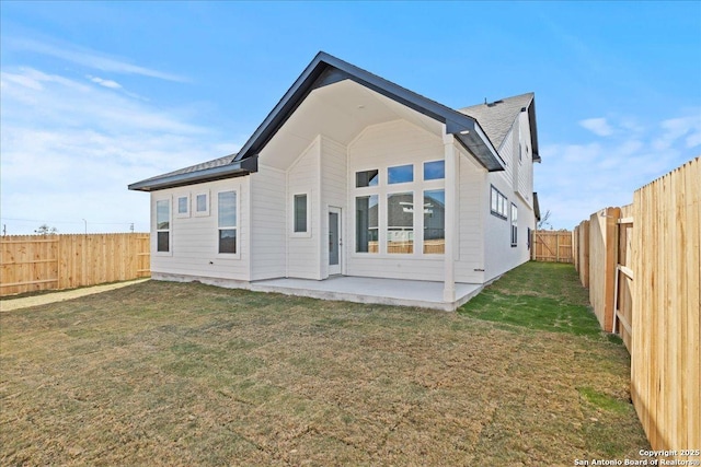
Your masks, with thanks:
[{"label": "pale concrete patio slab under the covered gable porch", "polygon": [[401,279],[332,277],[325,280],[268,279],[251,283],[257,292],[277,292],[286,295],[310,296],[322,300],[344,300],[356,303],[420,306],[452,312],[474,295],[483,285],[456,283],[456,301],[443,301],[443,282]]}]

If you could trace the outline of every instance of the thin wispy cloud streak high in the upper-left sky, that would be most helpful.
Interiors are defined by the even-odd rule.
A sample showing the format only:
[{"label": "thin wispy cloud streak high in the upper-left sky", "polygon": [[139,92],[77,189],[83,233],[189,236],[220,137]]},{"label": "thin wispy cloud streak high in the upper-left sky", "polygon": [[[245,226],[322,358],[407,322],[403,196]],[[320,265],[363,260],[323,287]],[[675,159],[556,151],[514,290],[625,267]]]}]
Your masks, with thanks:
[{"label": "thin wispy cloud streak high in the upper-left sky", "polygon": [[96,70],[122,74],[139,74],[166,81],[187,81],[185,78],[176,74],[133,65],[127,60],[107,57],[73,44],[61,43],[55,45],[26,37],[3,37],[3,47],[47,55]]}]

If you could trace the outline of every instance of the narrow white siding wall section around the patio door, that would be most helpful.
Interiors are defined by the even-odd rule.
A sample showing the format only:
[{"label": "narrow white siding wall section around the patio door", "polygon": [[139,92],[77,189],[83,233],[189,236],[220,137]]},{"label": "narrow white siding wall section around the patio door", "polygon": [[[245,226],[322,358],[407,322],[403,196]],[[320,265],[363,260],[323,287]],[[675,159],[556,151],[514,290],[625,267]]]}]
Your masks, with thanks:
[{"label": "narrow white siding wall section around the patio door", "polygon": [[[344,248],[347,247],[346,232],[348,225],[348,209],[346,200],[348,199],[347,185],[347,149],[345,145],[337,143],[329,138],[321,137],[321,238],[329,237],[329,208],[341,208],[341,238],[344,243],[341,254],[341,266],[343,267],[347,258]],[[329,277],[329,243],[320,242],[321,257],[321,277]]]}]

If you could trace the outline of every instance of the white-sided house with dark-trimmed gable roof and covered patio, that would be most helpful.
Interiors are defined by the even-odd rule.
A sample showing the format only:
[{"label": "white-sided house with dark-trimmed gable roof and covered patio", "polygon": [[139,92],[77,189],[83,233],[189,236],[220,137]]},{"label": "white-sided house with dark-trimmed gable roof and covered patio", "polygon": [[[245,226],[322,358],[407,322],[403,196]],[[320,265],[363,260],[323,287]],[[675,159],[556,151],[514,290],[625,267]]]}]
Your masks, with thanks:
[{"label": "white-sided house with dark-trimmed gable roof and covered patio", "polygon": [[154,279],[417,281],[455,310],[529,259],[533,162],[532,93],[456,110],[320,52],[237,154],[129,189]]}]

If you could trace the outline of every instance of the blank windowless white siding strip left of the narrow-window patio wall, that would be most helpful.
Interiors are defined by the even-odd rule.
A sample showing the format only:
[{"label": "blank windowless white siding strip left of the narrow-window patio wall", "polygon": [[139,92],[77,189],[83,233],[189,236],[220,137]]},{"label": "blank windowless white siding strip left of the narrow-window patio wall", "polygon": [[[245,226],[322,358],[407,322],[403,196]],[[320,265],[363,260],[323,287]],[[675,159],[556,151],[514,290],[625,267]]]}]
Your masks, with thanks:
[{"label": "blank windowless white siding strip left of the narrow-window patio wall", "polygon": [[286,273],[286,174],[258,164],[251,174],[251,280]]}]

